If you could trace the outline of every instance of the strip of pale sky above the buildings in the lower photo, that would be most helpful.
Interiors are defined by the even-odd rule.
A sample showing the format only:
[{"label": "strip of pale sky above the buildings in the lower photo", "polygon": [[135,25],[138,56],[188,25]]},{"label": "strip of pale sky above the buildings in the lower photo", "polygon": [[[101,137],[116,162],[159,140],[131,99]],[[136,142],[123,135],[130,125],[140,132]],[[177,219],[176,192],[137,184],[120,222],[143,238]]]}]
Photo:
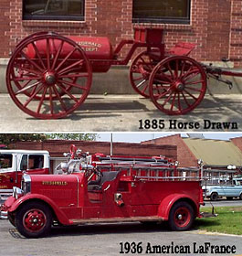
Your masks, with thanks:
[{"label": "strip of pale sky above the buildings in the lower photo", "polygon": [[[97,141],[110,142],[110,133],[98,133],[99,137]],[[113,142],[125,142],[125,143],[140,143],[142,141],[153,140],[163,136],[168,136],[177,133],[112,133]],[[187,133],[181,133],[182,136],[187,137]],[[197,134],[197,133],[192,133]],[[203,134],[205,139],[214,140],[226,140],[230,138],[241,137],[242,133],[198,133]]]}]

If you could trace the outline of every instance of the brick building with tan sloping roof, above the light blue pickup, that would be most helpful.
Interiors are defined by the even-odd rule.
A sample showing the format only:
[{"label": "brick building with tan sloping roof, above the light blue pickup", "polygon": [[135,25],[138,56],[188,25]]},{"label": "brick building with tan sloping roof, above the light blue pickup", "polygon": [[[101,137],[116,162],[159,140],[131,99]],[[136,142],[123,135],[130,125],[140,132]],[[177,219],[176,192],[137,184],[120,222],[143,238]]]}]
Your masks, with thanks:
[{"label": "brick building with tan sloping roof, above the light blue pickup", "polygon": [[177,160],[182,167],[197,166],[202,159],[210,168],[236,165],[242,170],[242,137],[230,141],[184,138],[181,134],[157,138],[142,144],[171,144],[177,146]]}]

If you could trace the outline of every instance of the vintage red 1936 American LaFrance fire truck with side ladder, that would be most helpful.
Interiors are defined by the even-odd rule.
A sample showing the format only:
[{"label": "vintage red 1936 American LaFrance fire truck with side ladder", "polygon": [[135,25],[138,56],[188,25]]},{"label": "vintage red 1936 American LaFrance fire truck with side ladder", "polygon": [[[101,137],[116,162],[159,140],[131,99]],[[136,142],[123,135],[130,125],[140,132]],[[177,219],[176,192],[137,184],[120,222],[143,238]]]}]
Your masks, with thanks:
[{"label": "vintage red 1936 American LaFrance fire truck with side ladder", "polygon": [[1,207],[26,238],[46,236],[54,222],[168,221],[172,230],[186,230],[201,217],[199,177],[183,176],[165,157],[75,151],[59,165],[63,175],[24,175]]}]

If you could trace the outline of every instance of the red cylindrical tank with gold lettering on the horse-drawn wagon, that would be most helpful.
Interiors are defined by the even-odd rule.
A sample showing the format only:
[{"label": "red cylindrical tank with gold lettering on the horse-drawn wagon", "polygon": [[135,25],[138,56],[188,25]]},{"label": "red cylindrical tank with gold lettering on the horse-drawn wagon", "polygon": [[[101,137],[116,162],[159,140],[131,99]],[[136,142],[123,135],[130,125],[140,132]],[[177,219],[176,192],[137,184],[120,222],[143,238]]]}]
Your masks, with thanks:
[{"label": "red cylindrical tank with gold lettering on the horse-drawn wagon", "polygon": [[[68,37],[75,41],[80,48],[84,49],[90,60],[110,60],[113,59],[113,50],[110,45],[108,37]],[[47,40],[41,39],[35,42],[38,52],[41,57],[47,56]],[[55,56],[58,52],[58,48],[61,44],[61,40],[54,39],[49,40],[49,52],[50,56]],[[64,42],[63,48],[59,54],[59,59],[64,59],[68,56],[68,53],[73,50],[73,46]],[[29,44],[26,48],[26,55],[31,58],[37,58],[37,53],[32,44]],[[79,51],[75,51],[71,55],[71,59],[80,59]],[[110,61],[92,61],[92,70],[94,72],[106,72],[110,69]]]}]

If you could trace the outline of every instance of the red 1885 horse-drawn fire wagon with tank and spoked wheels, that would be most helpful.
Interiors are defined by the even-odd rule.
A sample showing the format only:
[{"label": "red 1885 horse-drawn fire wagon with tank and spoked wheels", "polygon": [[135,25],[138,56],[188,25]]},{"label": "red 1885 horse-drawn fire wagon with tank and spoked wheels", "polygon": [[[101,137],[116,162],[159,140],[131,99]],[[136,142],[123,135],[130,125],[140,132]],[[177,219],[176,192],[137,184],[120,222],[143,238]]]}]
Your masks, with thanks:
[{"label": "red 1885 horse-drawn fire wagon with tank and spoked wheels", "polygon": [[[124,59],[121,50],[131,45]],[[122,40],[113,50],[107,37],[62,37],[39,32],[16,46],[6,70],[7,90],[16,105],[41,119],[62,118],[75,111],[89,94],[92,72],[107,72],[111,65],[127,65],[133,59],[130,80],[135,91],[150,98],[162,112],[191,112],[203,101],[207,75],[242,73],[214,68],[187,57],[195,44],[178,43],[164,49],[163,29],[136,28],[133,40]],[[221,80],[231,86],[231,82]]]}]

